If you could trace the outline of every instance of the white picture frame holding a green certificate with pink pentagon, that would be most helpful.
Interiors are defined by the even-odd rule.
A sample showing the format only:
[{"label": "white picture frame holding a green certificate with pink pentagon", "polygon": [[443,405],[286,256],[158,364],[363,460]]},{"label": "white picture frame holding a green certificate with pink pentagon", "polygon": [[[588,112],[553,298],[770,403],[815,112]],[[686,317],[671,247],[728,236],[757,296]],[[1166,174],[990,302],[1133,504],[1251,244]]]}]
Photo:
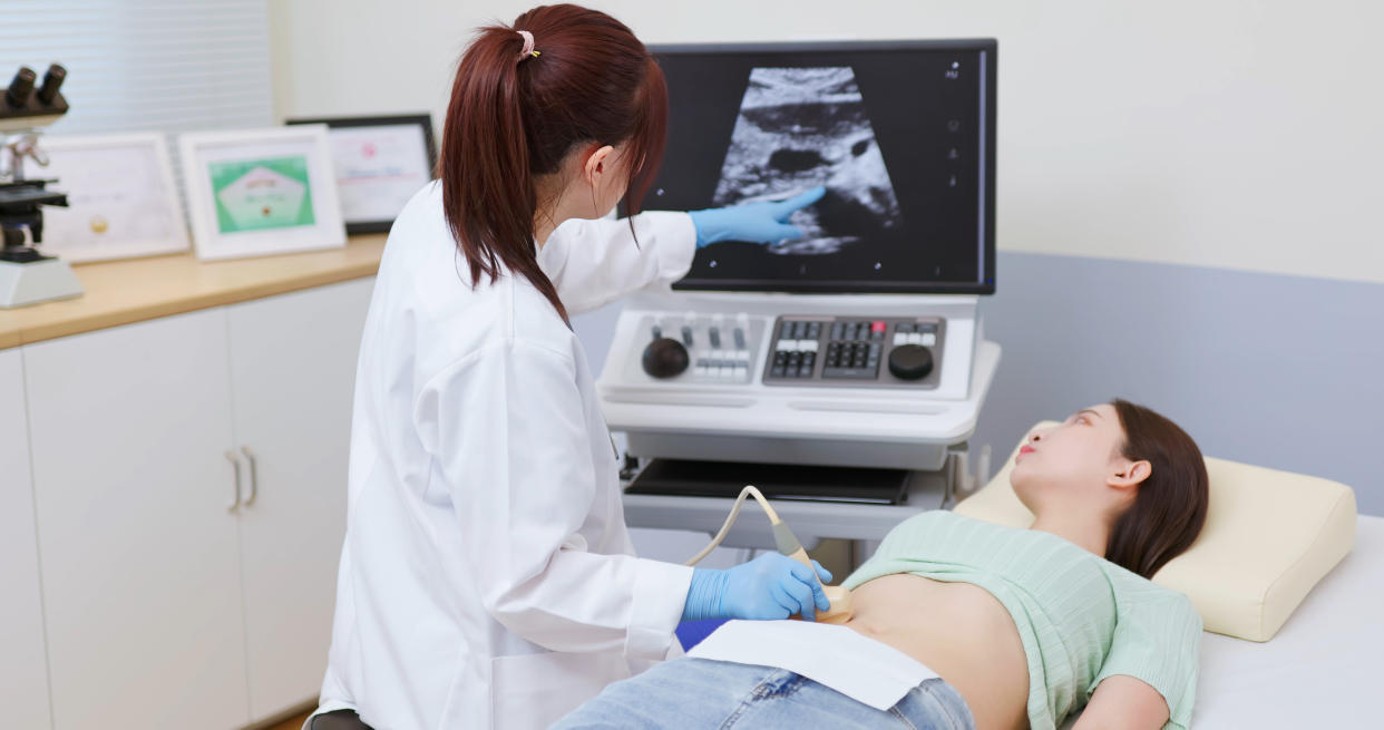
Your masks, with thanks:
[{"label": "white picture frame holding a green certificate with pink pentagon", "polygon": [[346,245],[325,125],[179,137],[202,260]]}]

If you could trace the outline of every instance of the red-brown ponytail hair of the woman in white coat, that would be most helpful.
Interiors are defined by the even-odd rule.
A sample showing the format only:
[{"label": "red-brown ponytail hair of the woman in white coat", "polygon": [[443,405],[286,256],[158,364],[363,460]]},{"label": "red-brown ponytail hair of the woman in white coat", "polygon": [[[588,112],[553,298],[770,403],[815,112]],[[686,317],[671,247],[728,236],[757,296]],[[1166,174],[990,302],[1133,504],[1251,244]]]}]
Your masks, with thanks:
[{"label": "red-brown ponytail hair of the woman in white coat", "polygon": [[[536,57],[520,61],[533,33]],[[623,144],[634,161],[626,211],[634,215],[663,158],[663,71],[620,21],[579,6],[541,6],[512,26],[477,29],[451,87],[437,159],[443,209],[457,248],[494,281],[527,278],[563,320],[566,308],[538,269],[534,179],[559,170],[580,144]]]}]

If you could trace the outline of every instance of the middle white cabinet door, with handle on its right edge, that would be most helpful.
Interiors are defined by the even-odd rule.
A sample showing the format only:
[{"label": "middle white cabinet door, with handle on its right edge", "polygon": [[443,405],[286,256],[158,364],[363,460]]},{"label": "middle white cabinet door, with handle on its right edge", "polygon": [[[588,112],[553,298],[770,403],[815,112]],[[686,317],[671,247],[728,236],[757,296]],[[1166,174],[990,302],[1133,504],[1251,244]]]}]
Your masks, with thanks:
[{"label": "middle white cabinet door, with handle on its right edge", "polygon": [[226,310],[24,348],[57,730],[249,719]]}]

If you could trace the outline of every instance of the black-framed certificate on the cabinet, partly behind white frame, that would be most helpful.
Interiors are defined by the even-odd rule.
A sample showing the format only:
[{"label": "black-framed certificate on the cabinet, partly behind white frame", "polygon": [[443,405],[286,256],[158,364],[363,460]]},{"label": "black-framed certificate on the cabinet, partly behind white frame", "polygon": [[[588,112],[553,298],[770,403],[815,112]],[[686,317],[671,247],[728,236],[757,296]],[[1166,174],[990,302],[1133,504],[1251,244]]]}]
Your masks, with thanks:
[{"label": "black-framed certificate on the cabinet, partly behind white frame", "polygon": [[327,125],[346,233],[388,233],[404,204],[433,180],[432,116],[321,116],[285,125]]}]

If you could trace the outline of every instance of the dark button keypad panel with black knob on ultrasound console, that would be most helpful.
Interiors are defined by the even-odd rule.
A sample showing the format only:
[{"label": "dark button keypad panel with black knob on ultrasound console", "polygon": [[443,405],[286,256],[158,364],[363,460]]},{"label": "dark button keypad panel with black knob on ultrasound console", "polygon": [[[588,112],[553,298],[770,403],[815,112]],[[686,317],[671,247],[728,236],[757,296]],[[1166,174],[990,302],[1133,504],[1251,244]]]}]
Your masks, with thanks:
[{"label": "dark button keypad panel with black knob on ultrasound console", "polygon": [[936,388],[945,326],[941,317],[778,317],[764,384]]}]

